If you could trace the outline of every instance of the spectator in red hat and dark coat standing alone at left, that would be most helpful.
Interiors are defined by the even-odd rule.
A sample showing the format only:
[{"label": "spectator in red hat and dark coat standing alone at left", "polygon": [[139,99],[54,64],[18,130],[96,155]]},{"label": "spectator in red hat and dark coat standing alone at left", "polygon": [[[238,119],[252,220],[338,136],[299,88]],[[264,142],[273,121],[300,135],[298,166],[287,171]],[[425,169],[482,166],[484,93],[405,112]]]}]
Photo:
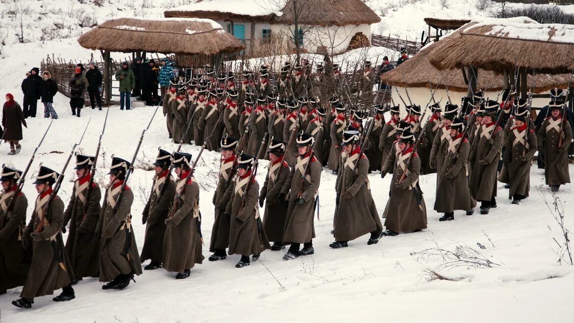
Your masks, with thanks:
[{"label": "spectator in red hat and dark coat standing alone at left", "polygon": [[4,141],[10,143],[8,155],[15,155],[20,152],[22,146],[18,141],[22,140],[22,125],[26,128],[26,120],[18,102],[14,101],[14,96],[6,94],[6,102],[2,109],[2,125],[4,126]]}]

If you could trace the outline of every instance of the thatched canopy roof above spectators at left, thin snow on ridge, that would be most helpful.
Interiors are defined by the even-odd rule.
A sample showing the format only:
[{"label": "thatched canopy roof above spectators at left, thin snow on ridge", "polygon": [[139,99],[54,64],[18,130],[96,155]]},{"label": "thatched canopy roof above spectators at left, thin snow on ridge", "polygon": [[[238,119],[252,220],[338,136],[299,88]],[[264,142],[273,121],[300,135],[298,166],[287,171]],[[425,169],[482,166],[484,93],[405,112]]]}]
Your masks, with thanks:
[{"label": "thatched canopy roof above spectators at left, thin snow on ridge", "polygon": [[241,41],[208,19],[118,18],[84,33],[77,41],[84,48],[125,53],[214,55],[245,49]]}]

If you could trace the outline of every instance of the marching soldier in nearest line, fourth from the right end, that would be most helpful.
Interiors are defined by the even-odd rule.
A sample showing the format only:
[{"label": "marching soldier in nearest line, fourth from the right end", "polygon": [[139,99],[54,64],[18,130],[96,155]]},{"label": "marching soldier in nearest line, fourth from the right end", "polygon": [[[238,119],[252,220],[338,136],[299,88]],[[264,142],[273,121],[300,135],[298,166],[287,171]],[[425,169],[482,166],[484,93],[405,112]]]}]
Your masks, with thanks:
[{"label": "marching soldier in nearest line, fourth from the right end", "polygon": [[[455,210],[474,213],[476,201],[470,195],[467,178],[467,160],[470,144],[463,140],[463,120],[455,118],[449,127],[445,155],[437,156],[441,161],[441,176],[437,176],[435,210],[444,213],[439,221],[455,220]],[[459,148],[460,145],[460,148]]]}]

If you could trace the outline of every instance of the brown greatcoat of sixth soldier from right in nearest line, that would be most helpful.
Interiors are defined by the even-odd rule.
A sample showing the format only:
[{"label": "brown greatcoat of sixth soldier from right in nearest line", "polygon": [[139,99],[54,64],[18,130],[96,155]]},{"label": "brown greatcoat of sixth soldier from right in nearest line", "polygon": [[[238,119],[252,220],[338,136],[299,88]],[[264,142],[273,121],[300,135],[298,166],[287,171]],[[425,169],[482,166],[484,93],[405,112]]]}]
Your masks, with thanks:
[{"label": "brown greatcoat of sixth soldier from right in nearest line", "polygon": [[339,171],[337,195],[340,197],[335,220],[335,240],[350,241],[363,234],[381,232],[383,225],[377,213],[377,206],[371,195],[369,179],[369,159],[362,155],[356,169],[354,163],[358,151],[346,157]]}]

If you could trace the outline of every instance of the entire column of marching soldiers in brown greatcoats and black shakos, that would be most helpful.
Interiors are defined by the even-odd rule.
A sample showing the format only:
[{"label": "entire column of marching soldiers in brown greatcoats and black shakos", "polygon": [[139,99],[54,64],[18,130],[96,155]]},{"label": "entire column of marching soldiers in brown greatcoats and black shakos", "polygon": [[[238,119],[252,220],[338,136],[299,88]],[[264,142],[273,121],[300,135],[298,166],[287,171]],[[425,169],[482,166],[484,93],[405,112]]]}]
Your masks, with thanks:
[{"label": "entire column of marching soldiers in brown greatcoats and black shakos", "polygon": [[[195,141],[221,153],[212,198],[211,262],[237,254],[241,258],[235,267],[242,268],[266,249],[280,251],[287,246],[284,260],[315,253],[314,221],[323,166],[336,174],[335,241],[329,245],[335,249],[365,234],[369,234],[367,244],[373,245],[383,236],[426,229],[426,205],[418,183],[423,172],[437,173],[434,209],[444,214],[440,221],[453,220],[456,210],[474,214],[477,202],[480,213],[487,214],[497,206],[497,165],[503,146],[506,172],[501,176],[508,177],[514,204],[529,195],[529,170],[536,151],[545,153],[546,183],[552,190],[569,182],[567,151],[572,132],[562,118],[563,102],[549,104],[549,116],[537,135],[530,124],[529,102],[517,99],[512,115],[502,124],[497,121],[504,105],[480,94],[464,118],[457,116],[458,106],[447,103],[444,109],[439,104],[430,106],[432,115],[426,122],[420,118],[421,106],[409,106],[402,120],[400,108],[393,106],[385,122],[385,109],[375,106],[363,125],[362,111],[347,109],[336,95],[329,97],[328,110],[318,95],[311,99],[302,95],[309,88],[300,87],[301,82],[337,78],[336,64],[326,61],[325,65],[332,74],[311,75],[307,64],[294,66],[297,77],[289,80],[287,73],[284,83],[277,81],[277,92],[266,68],[259,71],[259,83],[253,73],[243,72],[245,80],[237,90],[232,74],[215,80],[213,71],[188,83],[170,83],[164,98],[170,136],[176,142]],[[300,91],[299,99],[295,91]],[[423,166],[426,161],[419,154],[428,156],[428,165]],[[255,175],[263,158],[270,162],[259,189]],[[102,192],[89,172],[94,160],[76,156],[77,179],[65,210],[57,195],[48,201],[59,174],[42,166],[34,182],[38,197],[27,226],[27,199],[21,192],[14,196],[22,172],[2,169],[0,257],[5,261],[0,275],[10,279],[2,279],[0,293],[24,286],[15,306],[29,308],[34,298],[58,289],[62,292],[53,300],[69,301],[75,298],[72,285],[87,277],[98,277],[103,290],[125,289],[135,275],[142,274],[141,264],[147,260],[144,270],[164,268],[176,279],[188,278],[195,264],[203,262],[200,189],[191,155],[158,152],[142,214],[146,232],[141,256],[131,229],[134,194],[124,183],[131,165],[113,157],[110,184],[100,206]],[[377,170],[382,178],[392,174],[384,226],[367,176]],[[67,224],[64,245],[61,233]]]}]

